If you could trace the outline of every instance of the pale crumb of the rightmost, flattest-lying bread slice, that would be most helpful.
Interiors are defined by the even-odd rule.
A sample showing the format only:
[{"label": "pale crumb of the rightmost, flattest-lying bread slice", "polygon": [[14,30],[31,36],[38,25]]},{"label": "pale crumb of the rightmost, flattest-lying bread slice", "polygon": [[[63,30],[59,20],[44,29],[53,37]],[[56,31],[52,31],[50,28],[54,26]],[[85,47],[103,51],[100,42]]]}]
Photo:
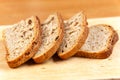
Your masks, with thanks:
[{"label": "pale crumb of the rightmost, flattest-lying bread slice", "polygon": [[99,52],[105,49],[111,33],[104,26],[93,26],[89,28],[88,38],[80,50],[88,52]]}]

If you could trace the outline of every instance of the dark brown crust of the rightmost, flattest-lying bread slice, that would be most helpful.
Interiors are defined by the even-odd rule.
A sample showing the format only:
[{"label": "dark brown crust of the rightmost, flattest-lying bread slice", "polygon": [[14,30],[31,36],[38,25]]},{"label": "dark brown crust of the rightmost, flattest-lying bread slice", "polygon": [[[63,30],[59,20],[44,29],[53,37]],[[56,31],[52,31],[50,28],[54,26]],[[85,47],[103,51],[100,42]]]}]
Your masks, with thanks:
[{"label": "dark brown crust of the rightmost, flattest-lying bread slice", "polygon": [[[111,36],[109,37],[107,41],[107,46],[104,50],[99,52],[88,52],[88,51],[82,51],[79,50],[75,56],[81,56],[86,58],[95,58],[95,59],[105,59],[108,58],[112,54],[113,47],[115,43],[119,40],[117,32],[109,25],[106,24],[98,24],[93,26],[105,26],[108,28],[111,32]],[[91,26],[92,27],[92,26]]]}]

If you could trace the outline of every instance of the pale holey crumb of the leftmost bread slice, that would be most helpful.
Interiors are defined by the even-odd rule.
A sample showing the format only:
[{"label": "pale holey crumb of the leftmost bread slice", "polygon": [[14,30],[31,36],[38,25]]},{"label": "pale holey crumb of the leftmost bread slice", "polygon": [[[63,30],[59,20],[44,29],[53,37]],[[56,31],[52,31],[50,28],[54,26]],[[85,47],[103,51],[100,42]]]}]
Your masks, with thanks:
[{"label": "pale holey crumb of the leftmost bread slice", "polygon": [[19,57],[22,52],[32,42],[34,37],[34,23],[27,19],[12,25],[11,28],[5,30],[6,44],[8,48],[8,60],[14,60]]}]

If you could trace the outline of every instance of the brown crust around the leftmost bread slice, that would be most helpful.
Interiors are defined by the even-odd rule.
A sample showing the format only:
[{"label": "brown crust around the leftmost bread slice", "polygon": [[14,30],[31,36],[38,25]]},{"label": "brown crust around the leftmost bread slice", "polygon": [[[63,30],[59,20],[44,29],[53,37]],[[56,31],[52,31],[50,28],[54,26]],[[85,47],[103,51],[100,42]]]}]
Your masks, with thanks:
[{"label": "brown crust around the leftmost bread slice", "polygon": [[37,16],[32,16],[30,19],[32,19],[33,23],[34,23],[34,37],[32,42],[30,42],[30,44],[27,46],[27,48],[24,50],[24,52],[22,52],[22,55],[20,55],[19,57],[15,58],[14,60],[9,60],[9,49],[7,47],[6,44],[6,37],[5,37],[5,32],[3,32],[3,39],[4,39],[4,43],[5,43],[5,48],[6,48],[6,60],[7,63],[9,65],[9,67],[11,68],[15,68],[20,66],[21,64],[23,64],[24,62],[26,62],[27,60],[29,60],[32,56],[34,56],[34,54],[38,51],[39,46],[41,44],[41,26],[40,26],[40,21],[38,19]]}]

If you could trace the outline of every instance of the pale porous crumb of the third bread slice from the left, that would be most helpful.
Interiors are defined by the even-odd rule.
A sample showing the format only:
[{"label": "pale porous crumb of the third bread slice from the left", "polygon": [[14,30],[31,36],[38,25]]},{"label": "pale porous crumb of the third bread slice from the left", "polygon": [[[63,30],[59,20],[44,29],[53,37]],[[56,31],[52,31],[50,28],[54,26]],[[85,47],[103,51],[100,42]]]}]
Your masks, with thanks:
[{"label": "pale porous crumb of the third bread slice from the left", "polygon": [[81,13],[78,13],[69,20],[64,21],[65,32],[63,42],[59,48],[59,53],[69,51],[75,45],[82,30],[81,22]]}]

